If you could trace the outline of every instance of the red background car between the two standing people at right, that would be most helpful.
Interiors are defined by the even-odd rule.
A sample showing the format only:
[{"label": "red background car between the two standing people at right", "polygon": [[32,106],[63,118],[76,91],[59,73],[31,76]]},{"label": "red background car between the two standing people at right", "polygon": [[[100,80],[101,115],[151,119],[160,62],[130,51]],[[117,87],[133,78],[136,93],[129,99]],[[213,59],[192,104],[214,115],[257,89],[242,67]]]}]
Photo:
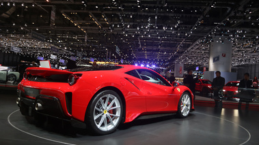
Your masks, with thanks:
[{"label": "red background car between the two standing people at right", "polygon": [[234,97],[238,93],[239,81],[228,82],[223,86],[223,96],[228,97],[228,99],[237,99]]}]

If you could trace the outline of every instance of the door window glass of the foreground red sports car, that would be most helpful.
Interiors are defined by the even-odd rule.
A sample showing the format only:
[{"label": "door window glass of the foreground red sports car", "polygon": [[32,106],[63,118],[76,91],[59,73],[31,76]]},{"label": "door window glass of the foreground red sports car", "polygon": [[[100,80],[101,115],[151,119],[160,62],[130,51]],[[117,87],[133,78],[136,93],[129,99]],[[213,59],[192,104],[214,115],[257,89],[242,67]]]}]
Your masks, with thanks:
[{"label": "door window glass of the foreground red sports car", "polygon": [[161,84],[164,86],[171,86],[163,77],[156,74],[154,71],[148,69],[137,69],[142,80],[152,82],[154,84]]}]

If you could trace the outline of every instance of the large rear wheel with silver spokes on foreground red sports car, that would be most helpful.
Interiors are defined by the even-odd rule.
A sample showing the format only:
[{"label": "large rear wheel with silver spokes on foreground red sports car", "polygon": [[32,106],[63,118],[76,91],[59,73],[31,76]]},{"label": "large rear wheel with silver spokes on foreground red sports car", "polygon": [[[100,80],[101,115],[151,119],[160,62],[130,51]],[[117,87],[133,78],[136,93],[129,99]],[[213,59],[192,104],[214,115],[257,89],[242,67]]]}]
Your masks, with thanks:
[{"label": "large rear wheel with silver spokes on foreground red sports car", "polygon": [[122,116],[123,104],[120,96],[114,91],[106,90],[95,95],[90,102],[85,122],[92,135],[106,135],[117,129]]}]

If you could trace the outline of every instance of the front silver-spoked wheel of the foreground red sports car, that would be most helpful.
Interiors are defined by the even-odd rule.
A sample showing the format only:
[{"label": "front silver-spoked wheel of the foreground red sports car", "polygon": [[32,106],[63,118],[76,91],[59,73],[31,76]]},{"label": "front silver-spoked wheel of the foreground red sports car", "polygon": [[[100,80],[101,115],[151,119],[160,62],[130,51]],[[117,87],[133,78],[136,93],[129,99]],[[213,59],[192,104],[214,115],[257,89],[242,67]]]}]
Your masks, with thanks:
[{"label": "front silver-spoked wheel of the foreground red sports car", "polygon": [[182,93],[178,102],[178,110],[176,114],[180,118],[186,118],[191,110],[191,95],[187,92]]}]

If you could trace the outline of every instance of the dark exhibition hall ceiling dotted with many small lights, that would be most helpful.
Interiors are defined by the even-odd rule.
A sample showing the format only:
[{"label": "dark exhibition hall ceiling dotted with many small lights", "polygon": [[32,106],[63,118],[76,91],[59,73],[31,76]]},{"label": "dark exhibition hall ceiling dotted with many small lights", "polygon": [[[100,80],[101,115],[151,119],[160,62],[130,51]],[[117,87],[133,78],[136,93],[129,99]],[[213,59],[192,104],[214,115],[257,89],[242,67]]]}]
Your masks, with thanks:
[{"label": "dark exhibition hall ceiling dotted with many small lights", "polygon": [[87,59],[167,68],[175,63],[207,67],[210,42],[218,37],[219,43],[232,42],[232,66],[255,64],[258,7],[257,0],[2,0],[0,48],[7,52],[16,46],[28,55],[82,52]]}]

